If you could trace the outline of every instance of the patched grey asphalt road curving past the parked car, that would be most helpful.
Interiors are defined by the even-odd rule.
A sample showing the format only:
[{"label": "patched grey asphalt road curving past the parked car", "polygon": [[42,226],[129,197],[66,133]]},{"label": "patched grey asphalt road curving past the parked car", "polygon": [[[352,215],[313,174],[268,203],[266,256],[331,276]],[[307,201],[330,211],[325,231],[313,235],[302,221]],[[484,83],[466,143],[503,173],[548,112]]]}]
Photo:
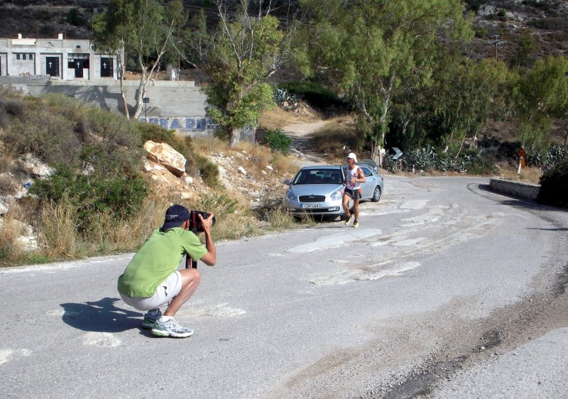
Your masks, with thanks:
[{"label": "patched grey asphalt road curving past the parked car", "polygon": [[132,254],[0,269],[2,398],[567,397],[568,212],[488,180],[386,177],[358,229],[217,244],[153,337]]}]

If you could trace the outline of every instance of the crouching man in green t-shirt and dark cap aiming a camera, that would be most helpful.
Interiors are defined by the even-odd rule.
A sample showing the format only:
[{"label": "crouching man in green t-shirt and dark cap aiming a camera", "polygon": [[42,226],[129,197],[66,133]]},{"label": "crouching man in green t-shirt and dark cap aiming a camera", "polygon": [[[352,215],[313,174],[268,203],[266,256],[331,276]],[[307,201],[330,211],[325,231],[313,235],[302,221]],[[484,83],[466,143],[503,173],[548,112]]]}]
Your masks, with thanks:
[{"label": "crouching man in green t-shirt and dark cap aiming a camera", "polygon": [[[217,261],[211,238],[214,222],[213,214],[172,205],[165,212],[163,226],[152,231],[119,277],[122,300],[137,310],[147,311],[142,327],[152,329],[155,336],[184,338],[193,334],[192,329],[181,327],[174,316],[200,284],[197,261],[208,266]],[[204,246],[197,237],[201,232],[205,234]],[[183,256],[187,256],[186,265],[191,260],[193,267],[178,270]],[[164,306],[162,313],[160,307]]]}]

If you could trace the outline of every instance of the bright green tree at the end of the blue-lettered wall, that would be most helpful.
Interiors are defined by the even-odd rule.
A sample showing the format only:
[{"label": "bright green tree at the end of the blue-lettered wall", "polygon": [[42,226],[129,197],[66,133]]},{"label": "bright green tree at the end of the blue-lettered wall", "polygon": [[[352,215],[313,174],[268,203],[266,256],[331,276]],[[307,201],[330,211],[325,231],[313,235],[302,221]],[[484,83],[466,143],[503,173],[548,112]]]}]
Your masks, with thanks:
[{"label": "bright green tree at the end of the blue-lettered wall", "polygon": [[[275,106],[267,80],[290,60],[293,18],[282,23],[272,15],[275,1],[241,0],[234,11],[227,1],[214,1],[219,25],[207,32],[203,14],[195,18],[193,53],[209,77],[207,114],[221,126],[231,146],[244,126],[256,126],[263,112]],[[253,14],[249,14],[253,10]]]}]

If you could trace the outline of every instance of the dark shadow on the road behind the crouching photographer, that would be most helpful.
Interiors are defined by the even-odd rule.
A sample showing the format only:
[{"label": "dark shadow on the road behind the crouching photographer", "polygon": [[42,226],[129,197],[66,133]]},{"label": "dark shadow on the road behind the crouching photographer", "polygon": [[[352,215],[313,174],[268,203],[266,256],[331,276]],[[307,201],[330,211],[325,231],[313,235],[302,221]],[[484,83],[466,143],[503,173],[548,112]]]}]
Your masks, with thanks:
[{"label": "dark shadow on the road behind the crouching photographer", "polygon": [[76,329],[92,332],[121,332],[139,328],[143,315],[114,306],[114,302],[119,300],[107,297],[97,302],[62,303],[60,306],[65,311],[63,322]]}]

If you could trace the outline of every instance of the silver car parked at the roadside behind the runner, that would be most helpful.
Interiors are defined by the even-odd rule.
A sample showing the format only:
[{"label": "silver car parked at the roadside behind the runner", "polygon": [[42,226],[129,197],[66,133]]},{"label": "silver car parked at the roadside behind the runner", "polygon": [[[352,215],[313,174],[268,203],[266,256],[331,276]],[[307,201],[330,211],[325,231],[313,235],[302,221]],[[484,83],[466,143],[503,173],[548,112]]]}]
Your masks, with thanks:
[{"label": "silver car parked at the roadside behind the runner", "polygon": [[[378,165],[371,160],[362,160],[357,165],[367,180],[361,183],[361,200],[378,202],[383,192],[383,177],[378,173]],[[346,165],[305,166],[292,180],[285,180],[284,183],[290,185],[284,197],[288,214],[346,219],[342,207],[346,168]],[[349,208],[352,207],[353,200],[350,200]]]}]

